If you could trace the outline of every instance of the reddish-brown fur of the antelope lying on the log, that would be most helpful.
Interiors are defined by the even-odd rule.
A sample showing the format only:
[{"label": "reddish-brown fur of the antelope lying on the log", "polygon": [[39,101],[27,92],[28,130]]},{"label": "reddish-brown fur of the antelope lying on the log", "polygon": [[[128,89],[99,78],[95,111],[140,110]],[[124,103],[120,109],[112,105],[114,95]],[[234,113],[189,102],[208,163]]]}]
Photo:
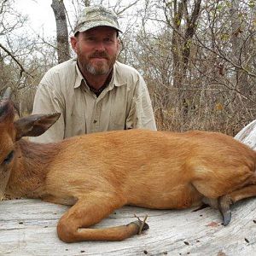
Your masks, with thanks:
[{"label": "reddish-brown fur of the antelope lying on the log", "polygon": [[[46,126],[44,115],[27,118],[28,129],[11,114],[0,117],[0,193],[73,205],[57,226],[63,241],[137,234],[140,222],[89,228],[124,205],[182,209],[220,199],[225,214],[231,202],[256,195],[256,153],[224,134],[108,131],[38,144],[16,138],[32,135],[34,127],[36,135],[47,130],[56,115],[47,115]],[[4,164],[12,150],[14,158]]]}]

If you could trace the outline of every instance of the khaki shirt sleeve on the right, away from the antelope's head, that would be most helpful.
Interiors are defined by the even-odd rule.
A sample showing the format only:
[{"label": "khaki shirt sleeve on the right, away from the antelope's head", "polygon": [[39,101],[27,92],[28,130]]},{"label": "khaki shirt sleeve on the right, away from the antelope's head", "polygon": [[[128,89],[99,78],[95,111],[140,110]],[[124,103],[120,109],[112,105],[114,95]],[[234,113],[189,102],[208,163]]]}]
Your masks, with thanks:
[{"label": "khaki shirt sleeve on the right, away from the antelope's head", "polygon": [[147,85],[139,75],[125,129],[143,128],[156,131],[154,112]]}]

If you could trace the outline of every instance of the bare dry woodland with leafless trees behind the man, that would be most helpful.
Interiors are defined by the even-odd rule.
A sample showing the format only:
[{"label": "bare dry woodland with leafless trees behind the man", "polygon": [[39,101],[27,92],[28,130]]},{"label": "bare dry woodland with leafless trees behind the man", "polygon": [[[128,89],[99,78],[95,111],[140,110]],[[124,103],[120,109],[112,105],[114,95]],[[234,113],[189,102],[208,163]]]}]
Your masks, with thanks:
[{"label": "bare dry woodland with leafless trees behind the man", "polygon": [[28,29],[19,2],[0,0],[0,95],[10,86],[21,115],[44,73],[74,56],[73,20],[103,4],[119,16],[119,61],[143,75],[159,130],[234,136],[256,117],[256,0],[52,0],[54,36]]}]

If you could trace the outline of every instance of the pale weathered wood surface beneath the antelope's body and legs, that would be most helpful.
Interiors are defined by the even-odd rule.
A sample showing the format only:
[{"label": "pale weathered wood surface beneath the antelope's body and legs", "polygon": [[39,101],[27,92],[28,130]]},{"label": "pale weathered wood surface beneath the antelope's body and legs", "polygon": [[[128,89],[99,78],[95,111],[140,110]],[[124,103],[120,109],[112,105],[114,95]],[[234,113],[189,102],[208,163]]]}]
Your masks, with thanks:
[{"label": "pale weathered wood surface beneath the antelope's body and legs", "polygon": [[[84,241],[66,244],[56,224],[67,207],[36,200],[0,204],[0,255],[253,255],[256,252],[256,200],[232,207],[224,227],[210,207],[183,211],[123,207],[97,227],[127,224],[134,213],[148,214],[150,229],[125,241]],[[223,254],[221,254],[223,253]]]}]

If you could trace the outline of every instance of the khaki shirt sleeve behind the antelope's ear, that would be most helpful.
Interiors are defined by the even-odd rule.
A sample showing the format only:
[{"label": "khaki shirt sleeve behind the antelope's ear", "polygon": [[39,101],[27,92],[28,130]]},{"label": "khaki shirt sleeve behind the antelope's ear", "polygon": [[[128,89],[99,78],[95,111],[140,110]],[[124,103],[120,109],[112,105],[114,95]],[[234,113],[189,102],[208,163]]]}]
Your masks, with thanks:
[{"label": "khaki shirt sleeve behind the antelope's ear", "polygon": [[55,143],[64,138],[65,132],[65,108],[61,95],[52,86],[52,81],[43,78],[38,85],[35,95],[32,113],[61,113],[60,118],[39,137],[30,137],[35,143]]}]

